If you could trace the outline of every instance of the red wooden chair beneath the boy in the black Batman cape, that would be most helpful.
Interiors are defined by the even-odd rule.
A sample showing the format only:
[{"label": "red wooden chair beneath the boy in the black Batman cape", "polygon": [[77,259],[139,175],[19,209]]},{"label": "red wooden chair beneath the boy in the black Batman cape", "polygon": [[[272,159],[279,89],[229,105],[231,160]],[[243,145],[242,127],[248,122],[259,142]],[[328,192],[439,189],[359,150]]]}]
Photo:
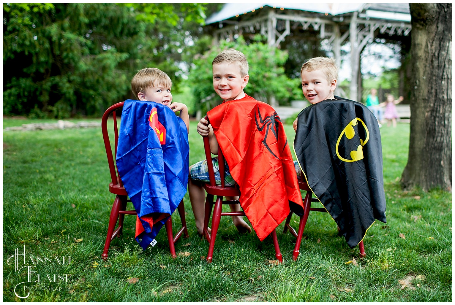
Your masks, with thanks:
[{"label": "red wooden chair beneath the boy in the black Batman cape", "polygon": [[[311,207],[311,202],[319,202],[317,198],[312,198],[313,192],[309,188],[308,184],[304,182],[303,180],[303,175],[300,173],[300,179],[298,180],[298,186],[300,190],[305,190],[306,195],[305,198],[303,199],[303,216],[300,217],[300,223],[298,225],[298,231],[296,232],[294,228],[289,224],[291,221],[292,217],[292,211],[289,213],[288,218],[286,218],[286,223],[284,225],[283,233],[286,233],[286,231],[289,229],[289,232],[291,232],[292,235],[294,235],[297,240],[295,242],[295,248],[293,251],[293,260],[297,260],[299,250],[300,250],[300,243],[302,242],[302,235],[303,235],[303,229],[305,229],[305,225],[307,224],[308,220],[308,215],[310,214],[310,211],[319,211],[319,212],[326,212],[327,210],[325,208],[312,208]],[[337,226],[337,229],[338,226]],[[365,250],[364,250],[364,241],[360,241],[359,243],[359,250],[360,250],[360,256],[365,257]]]}]

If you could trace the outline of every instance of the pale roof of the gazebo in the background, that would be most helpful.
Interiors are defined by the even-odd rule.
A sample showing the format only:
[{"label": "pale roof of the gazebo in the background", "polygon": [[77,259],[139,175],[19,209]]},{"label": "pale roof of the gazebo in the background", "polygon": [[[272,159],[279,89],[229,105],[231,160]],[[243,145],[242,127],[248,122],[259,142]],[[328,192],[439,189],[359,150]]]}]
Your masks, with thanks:
[{"label": "pale roof of the gazebo in the background", "polygon": [[207,18],[206,24],[227,20],[251,11],[254,12],[264,6],[333,16],[363,10],[366,18],[406,22],[411,20],[408,3],[226,3],[219,12]]}]

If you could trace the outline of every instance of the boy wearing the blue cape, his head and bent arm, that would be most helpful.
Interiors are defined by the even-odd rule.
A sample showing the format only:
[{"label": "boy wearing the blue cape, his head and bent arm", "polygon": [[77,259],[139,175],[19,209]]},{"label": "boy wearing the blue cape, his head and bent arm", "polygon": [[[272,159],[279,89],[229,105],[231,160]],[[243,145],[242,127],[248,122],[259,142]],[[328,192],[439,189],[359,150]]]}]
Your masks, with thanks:
[{"label": "boy wearing the blue cape, his head and bent arm", "polygon": [[187,105],[172,103],[171,94],[172,81],[169,76],[157,68],[144,68],[134,75],[131,80],[131,91],[138,100],[167,105],[172,111],[180,111],[180,118],[187,125],[187,132],[190,128],[190,117]]}]

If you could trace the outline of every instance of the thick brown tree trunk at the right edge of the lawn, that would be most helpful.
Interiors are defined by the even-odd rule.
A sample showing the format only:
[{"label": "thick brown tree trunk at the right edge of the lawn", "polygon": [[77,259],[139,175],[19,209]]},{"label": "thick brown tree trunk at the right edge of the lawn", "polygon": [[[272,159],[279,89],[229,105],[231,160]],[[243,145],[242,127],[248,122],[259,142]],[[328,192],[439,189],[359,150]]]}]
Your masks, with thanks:
[{"label": "thick brown tree trunk at the right edge of the lawn", "polygon": [[412,94],[405,189],[452,189],[452,4],[411,3]]}]

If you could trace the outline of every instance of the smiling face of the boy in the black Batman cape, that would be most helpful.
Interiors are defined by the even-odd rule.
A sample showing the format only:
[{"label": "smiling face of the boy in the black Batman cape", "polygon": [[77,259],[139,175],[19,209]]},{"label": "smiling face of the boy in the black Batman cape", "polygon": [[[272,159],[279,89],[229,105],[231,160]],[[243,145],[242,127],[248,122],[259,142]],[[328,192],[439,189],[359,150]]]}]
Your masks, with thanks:
[{"label": "smiling face of the boy in the black Batman cape", "polygon": [[323,100],[334,100],[334,91],[337,80],[327,80],[324,70],[302,70],[302,91],[310,104],[316,104]]}]

